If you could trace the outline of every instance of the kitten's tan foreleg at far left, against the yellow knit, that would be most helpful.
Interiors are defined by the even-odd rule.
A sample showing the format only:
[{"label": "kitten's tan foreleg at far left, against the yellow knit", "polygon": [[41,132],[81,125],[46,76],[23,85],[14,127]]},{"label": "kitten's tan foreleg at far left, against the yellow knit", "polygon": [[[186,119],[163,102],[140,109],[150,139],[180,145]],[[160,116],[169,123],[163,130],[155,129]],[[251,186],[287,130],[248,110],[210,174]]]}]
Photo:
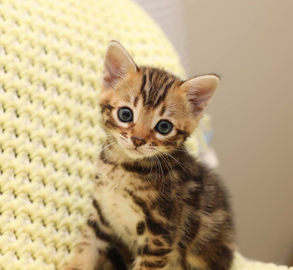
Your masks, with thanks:
[{"label": "kitten's tan foreleg at far left, against the yellow knit", "polygon": [[89,219],[82,230],[81,239],[68,266],[62,270],[94,270],[108,260],[106,252],[110,246],[107,235],[96,221]]}]

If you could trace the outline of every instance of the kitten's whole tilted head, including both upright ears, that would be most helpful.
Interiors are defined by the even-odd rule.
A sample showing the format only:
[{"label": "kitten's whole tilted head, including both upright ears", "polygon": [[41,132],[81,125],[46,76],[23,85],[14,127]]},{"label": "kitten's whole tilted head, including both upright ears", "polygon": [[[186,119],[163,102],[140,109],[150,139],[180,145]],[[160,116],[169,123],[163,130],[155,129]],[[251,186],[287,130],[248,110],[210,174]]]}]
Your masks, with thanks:
[{"label": "kitten's whole tilted head, including both upright ears", "polygon": [[180,149],[218,84],[213,74],[182,81],[162,69],[137,66],[112,41],[105,54],[100,96],[103,126],[130,158]]}]

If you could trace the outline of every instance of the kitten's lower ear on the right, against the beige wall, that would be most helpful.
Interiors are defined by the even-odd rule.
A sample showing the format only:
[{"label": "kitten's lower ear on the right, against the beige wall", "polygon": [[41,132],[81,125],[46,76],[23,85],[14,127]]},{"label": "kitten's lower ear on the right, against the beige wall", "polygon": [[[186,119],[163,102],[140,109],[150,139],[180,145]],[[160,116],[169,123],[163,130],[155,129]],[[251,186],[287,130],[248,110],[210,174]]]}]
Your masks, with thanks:
[{"label": "kitten's lower ear on the right, against the beige wall", "polygon": [[186,89],[195,116],[204,112],[219,86],[219,81],[218,76],[211,74],[192,78],[182,84],[182,87]]}]

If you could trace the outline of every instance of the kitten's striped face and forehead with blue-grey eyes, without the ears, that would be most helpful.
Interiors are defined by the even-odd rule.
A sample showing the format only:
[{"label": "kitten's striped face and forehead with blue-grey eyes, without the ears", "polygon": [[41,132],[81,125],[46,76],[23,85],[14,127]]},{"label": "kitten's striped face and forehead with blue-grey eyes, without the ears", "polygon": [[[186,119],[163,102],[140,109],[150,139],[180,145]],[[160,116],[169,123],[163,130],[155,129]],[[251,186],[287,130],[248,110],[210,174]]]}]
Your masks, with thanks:
[{"label": "kitten's striped face and forehead with blue-grey eyes, without the ears", "polygon": [[128,155],[180,149],[196,124],[180,84],[161,70],[140,68],[103,95],[103,125]]}]

